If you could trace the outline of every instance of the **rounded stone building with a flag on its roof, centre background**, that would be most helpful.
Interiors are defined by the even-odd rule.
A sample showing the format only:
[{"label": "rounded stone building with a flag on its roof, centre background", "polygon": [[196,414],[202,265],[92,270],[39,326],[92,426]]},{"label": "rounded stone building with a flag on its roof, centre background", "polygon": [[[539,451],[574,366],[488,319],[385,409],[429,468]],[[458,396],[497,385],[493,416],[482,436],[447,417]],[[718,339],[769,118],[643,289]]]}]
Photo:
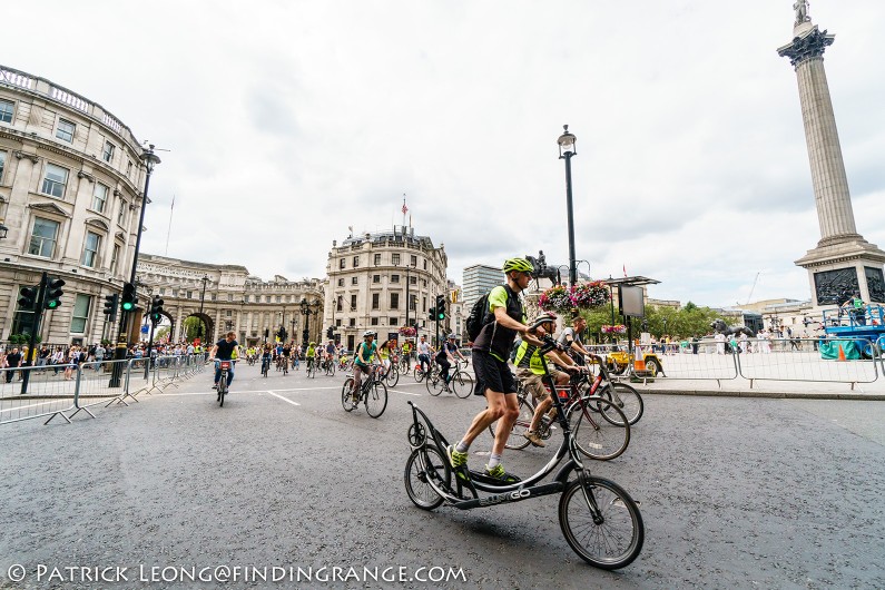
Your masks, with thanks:
[{"label": "rounded stone building with a flag on its roof, centre background", "polygon": [[437,295],[450,295],[446,264],[444,246],[416,236],[412,227],[352,235],[340,246],[334,240],[326,266],[325,330],[334,326],[334,337],[348,350],[367,330],[382,341],[415,324],[419,334],[433,335],[427,314]]}]

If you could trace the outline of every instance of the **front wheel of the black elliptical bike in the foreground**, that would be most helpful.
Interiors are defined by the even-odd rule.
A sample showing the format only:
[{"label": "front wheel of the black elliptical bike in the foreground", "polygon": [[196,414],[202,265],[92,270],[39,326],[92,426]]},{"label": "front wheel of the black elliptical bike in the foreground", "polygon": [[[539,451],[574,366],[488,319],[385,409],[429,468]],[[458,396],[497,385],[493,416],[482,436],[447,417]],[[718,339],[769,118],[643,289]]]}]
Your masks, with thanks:
[{"label": "front wheel of the black elliptical bike in the foreground", "polygon": [[620,485],[601,478],[572,481],[559,499],[566,541],[591,566],[617,570],[642,550],[646,529],[639,508]]}]

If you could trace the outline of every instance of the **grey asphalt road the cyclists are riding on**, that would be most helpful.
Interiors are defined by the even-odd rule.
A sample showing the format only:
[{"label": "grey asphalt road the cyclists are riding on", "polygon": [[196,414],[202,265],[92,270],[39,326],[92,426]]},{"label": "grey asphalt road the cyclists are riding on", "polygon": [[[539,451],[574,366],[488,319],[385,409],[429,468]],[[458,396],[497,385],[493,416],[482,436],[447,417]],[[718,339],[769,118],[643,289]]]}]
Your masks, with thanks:
[{"label": "grey asphalt road the cyclists are riding on", "polygon": [[[451,568],[466,580],[234,584],[255,588],[885,587],[883,402],[647,395],[630,449],[594,465],[642,502],[647,527],[640,558],[604,572],[568,547],[551,496],[470,512],[411,504],[406,400],[455,439],[479,399],[431,397],[410,377],[373,420],[342,410],[342,381],[240,367],[223,409],[201,375],[96,420],[0,427],[0,586],[107,588],[79,570],[59,570],[68,584],[49,576],[125,567],[119,587],[187,588],[161,568],[186,579],[240,566]],[[505,464],[528,474],[549,452],[509,451]]]}]

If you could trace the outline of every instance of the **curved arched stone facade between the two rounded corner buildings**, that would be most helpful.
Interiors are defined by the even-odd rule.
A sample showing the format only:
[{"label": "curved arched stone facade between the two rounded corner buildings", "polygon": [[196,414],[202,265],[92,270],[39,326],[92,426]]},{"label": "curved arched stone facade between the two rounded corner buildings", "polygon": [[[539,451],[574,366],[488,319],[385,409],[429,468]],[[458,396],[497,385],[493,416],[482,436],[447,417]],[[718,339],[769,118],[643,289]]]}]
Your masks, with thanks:
[{"label": "curved arched stone facade between the two rounded corner buildings", "polygon": [[207,342],[234,332],[240,344],[260,344],[281,328],[285,341],[321,337],[325,289],[318,278],[262,281],[244,266],[141,254],[137,279],[141,295],[163,298],[173,341],[184,340],[188,317],[201,319]]}]

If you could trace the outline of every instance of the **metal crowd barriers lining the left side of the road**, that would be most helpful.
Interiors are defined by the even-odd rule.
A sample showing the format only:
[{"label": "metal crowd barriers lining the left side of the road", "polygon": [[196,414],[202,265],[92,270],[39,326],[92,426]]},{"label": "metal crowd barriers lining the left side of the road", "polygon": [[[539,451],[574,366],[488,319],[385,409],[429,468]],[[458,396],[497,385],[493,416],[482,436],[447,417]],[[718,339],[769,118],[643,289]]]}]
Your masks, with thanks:
[{"label": "metal crowd barriers lining the left side of the road", "polygon": [[[111,386],[115,366],[119,366],[119,385]],[[79,365],[50,365],[0,368],[0,424],[22,420],[43,419],[49,424],[56,416],[70,423],[80,411],[95,417],[89,410],[99,404],[129,405],[127,399],[138,401],[141,393],[177,386],[175,381],[204,371],[203,355],[158,356],[99,361]],[[21,380],[28,373],[28,387],[22,393]]]}]

